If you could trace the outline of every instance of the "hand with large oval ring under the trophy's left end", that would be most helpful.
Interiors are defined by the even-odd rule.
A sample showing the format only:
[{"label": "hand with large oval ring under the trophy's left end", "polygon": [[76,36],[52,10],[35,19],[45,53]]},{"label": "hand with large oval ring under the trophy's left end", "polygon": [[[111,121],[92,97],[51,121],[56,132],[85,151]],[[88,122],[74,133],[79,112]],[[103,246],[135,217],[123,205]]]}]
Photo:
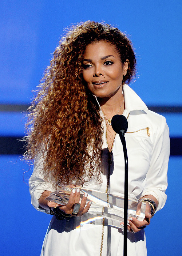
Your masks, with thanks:
[{"label": "hand with large oval ring under the trophy's left end", "polygon": [[[88,196],[88,194],[85,193],[83,198],[82,198],[82,201],[80,203],[79,212],[76,216],[82,216],[84,213],[86,213],[89,210],[89,208],[91,206],[91,202],[88,202],[87,205],[86,205],[87,196]],[[48,202],[47,205],[49,207],[59,207],[60,206],[59,207],[60,210],[64,211],[66,214],[72,215],[74,204],[79,203],[79,202],[80,202],[80,189],[79,188],[76,188],[76,189],[74,188],[71,191],[70,199],[69,199],[67,205],[63,206],[63,205],[60,205],[60,204],[56,204],[54,202]]]}]

